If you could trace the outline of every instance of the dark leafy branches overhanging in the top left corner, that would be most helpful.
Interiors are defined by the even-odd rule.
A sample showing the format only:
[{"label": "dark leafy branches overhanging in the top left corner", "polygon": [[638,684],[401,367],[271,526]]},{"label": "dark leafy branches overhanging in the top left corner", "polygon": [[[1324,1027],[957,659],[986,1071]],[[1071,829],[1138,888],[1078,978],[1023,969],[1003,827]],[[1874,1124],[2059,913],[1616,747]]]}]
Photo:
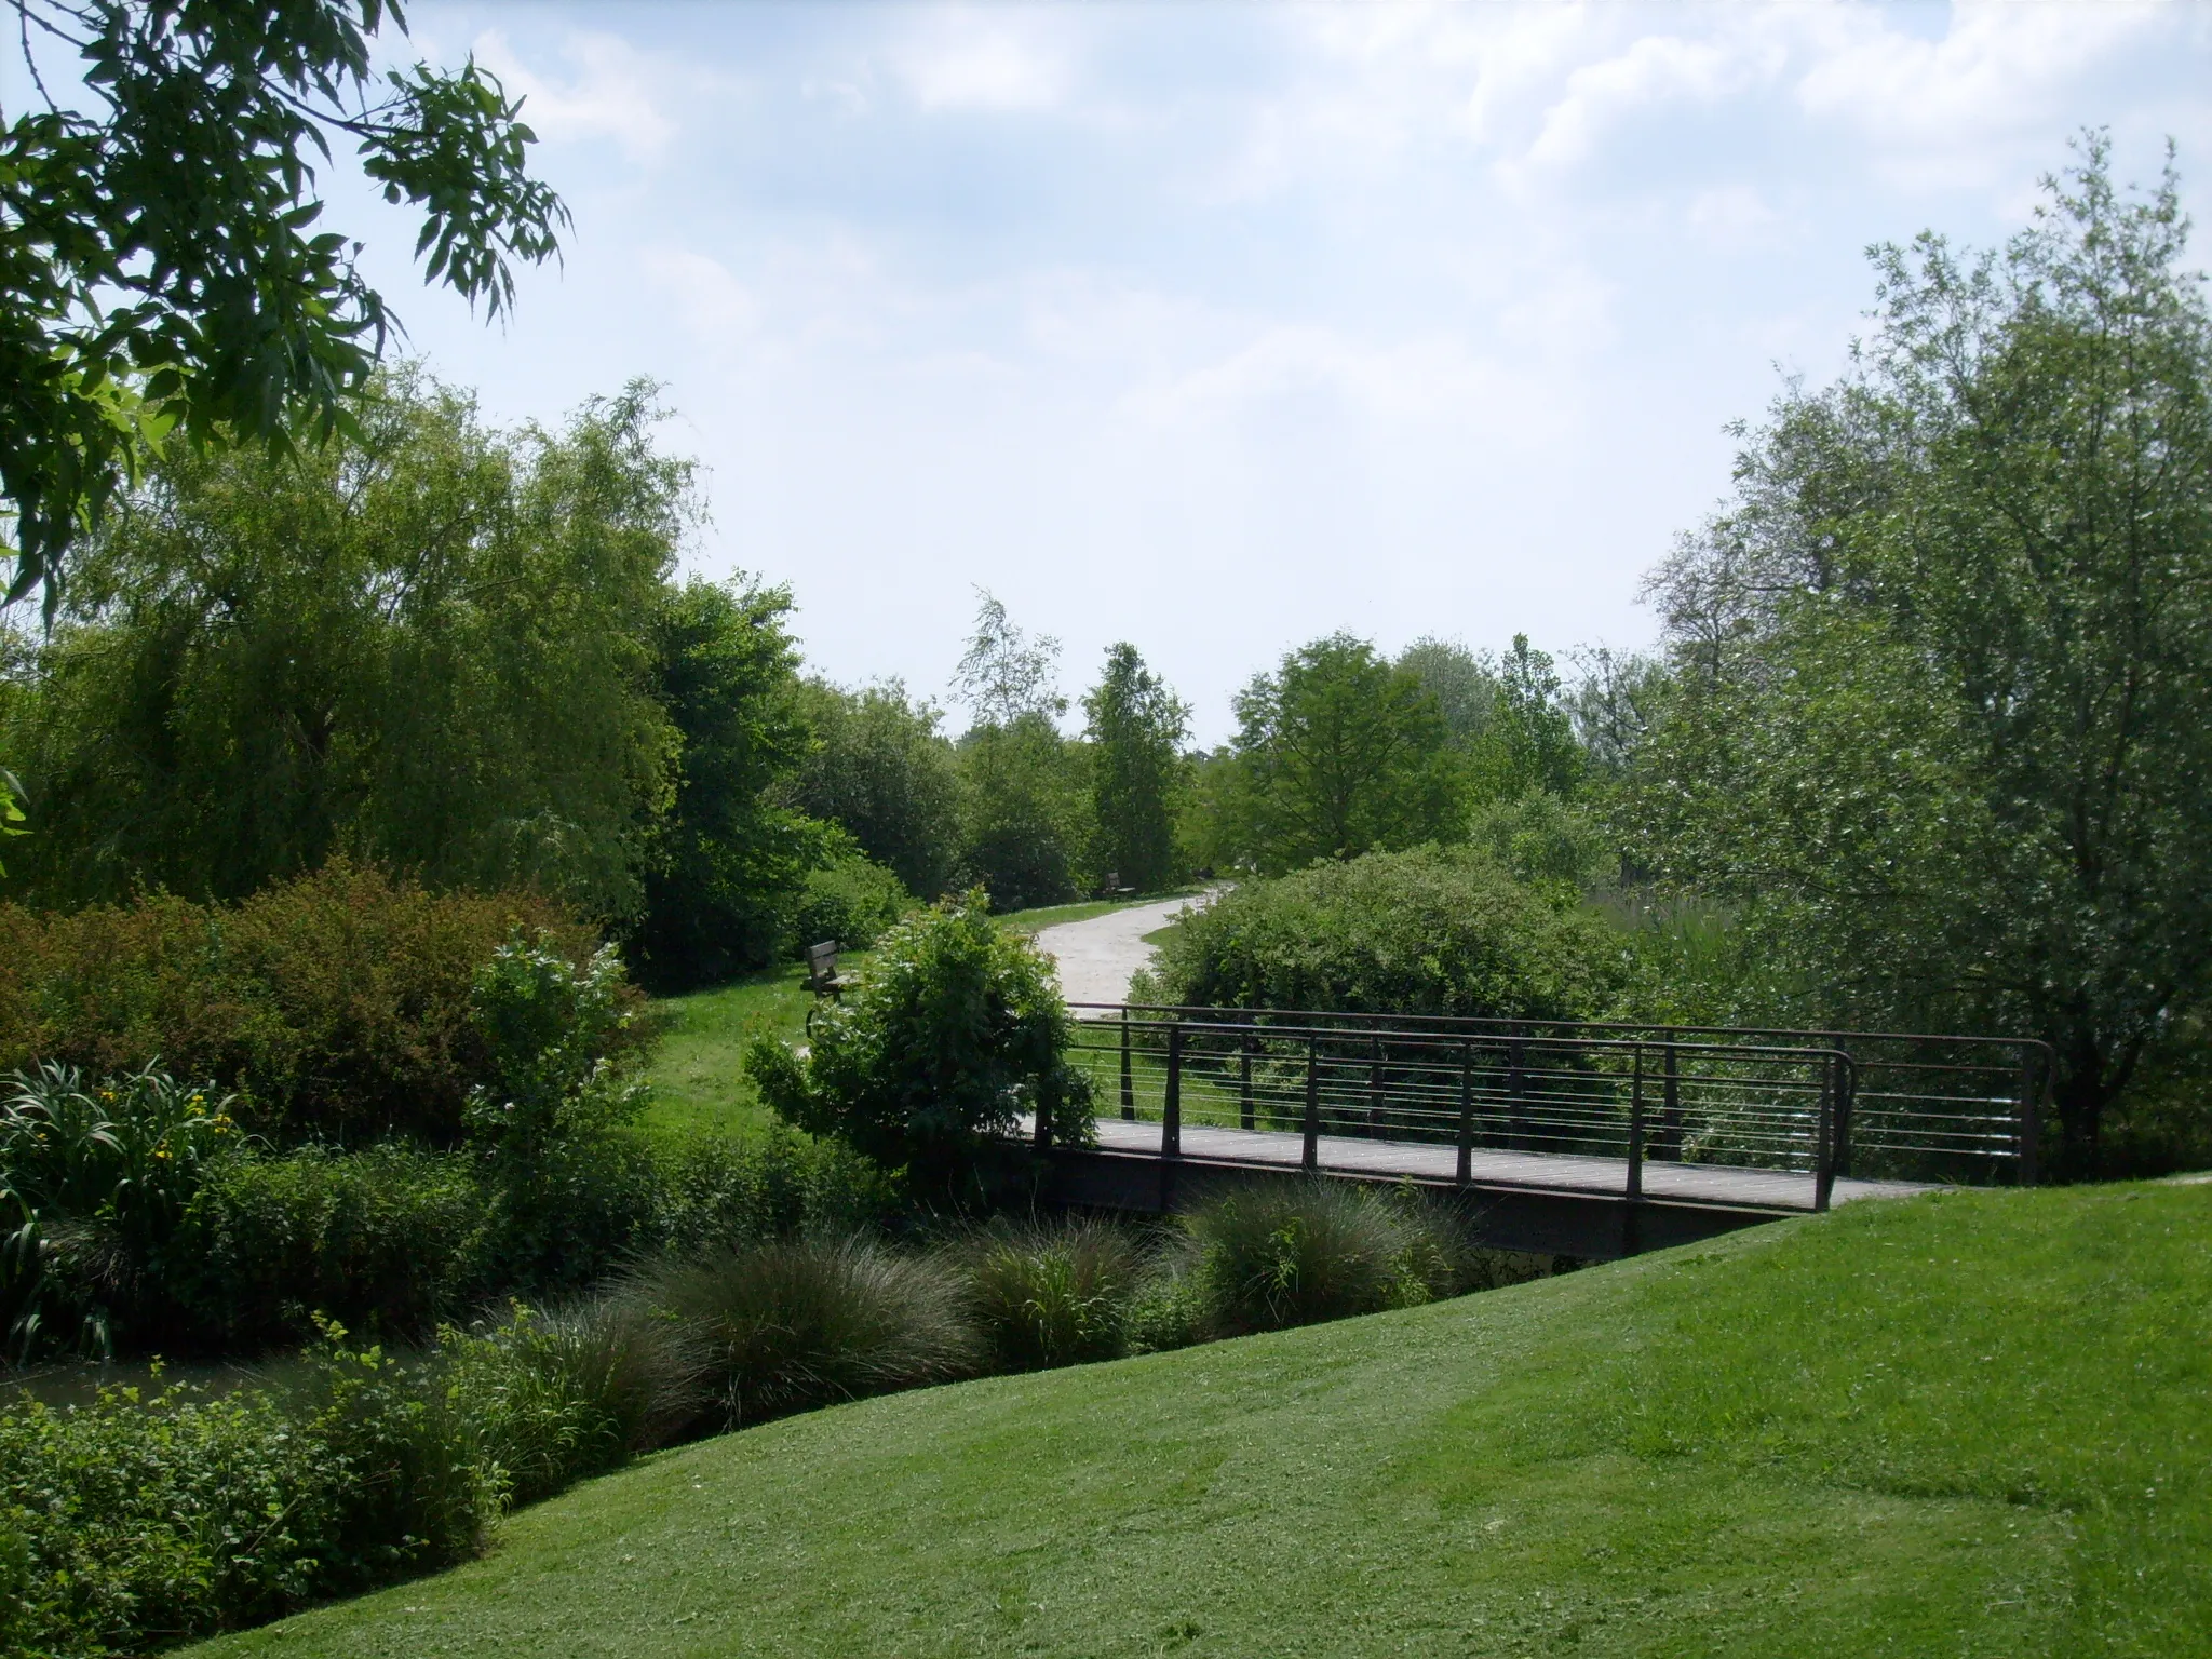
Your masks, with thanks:
[{"label": "dark leafy branches overhanging in the top left corner", "polygon": [[51,613],[69,544],[173,425],[285,447],[349,425],[394,319],[356,246],[312,230],[332,137],[422,208],[425,274],[493,316],[513,261],[549,259],[568,215],[524,170],[535,135],[498,77],[376,62],[383,20],[405,29],[380,0],[15,11],[24,53],[33,33],[77,46],[84,93],[0,128],[7,597],[44,584]]}]

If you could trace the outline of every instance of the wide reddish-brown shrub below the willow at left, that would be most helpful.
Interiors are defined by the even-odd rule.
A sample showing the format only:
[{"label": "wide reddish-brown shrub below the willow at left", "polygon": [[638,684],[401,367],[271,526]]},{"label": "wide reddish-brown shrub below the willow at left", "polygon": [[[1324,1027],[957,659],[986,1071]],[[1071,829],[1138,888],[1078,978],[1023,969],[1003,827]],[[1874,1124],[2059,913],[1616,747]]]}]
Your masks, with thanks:
[{"label": "wide reddish-brown shrub below the willow at left", "polygon": [[0,1068],[159,1060],[239,1091],[246,1128],[274,1139],[453,1144],[484,1082],[476,973],[518,925],[591,956],[544,900],[431,894],[343,860],[239,905],[0,905]]}]

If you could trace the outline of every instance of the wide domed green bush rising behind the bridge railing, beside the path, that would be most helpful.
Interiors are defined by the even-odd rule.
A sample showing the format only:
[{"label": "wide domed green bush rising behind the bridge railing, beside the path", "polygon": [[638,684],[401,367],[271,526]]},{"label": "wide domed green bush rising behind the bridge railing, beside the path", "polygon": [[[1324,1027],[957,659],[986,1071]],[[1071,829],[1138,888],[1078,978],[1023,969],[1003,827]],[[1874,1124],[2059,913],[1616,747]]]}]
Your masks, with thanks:
[{"label": "wide domed green bush rising behind the bridge railing, beside the path", "polygon": [[1586,1020],[1621,947],[1480,852],[1418,847],[1243,883],[1168,933],[1157,962],[1137,1000]]}]

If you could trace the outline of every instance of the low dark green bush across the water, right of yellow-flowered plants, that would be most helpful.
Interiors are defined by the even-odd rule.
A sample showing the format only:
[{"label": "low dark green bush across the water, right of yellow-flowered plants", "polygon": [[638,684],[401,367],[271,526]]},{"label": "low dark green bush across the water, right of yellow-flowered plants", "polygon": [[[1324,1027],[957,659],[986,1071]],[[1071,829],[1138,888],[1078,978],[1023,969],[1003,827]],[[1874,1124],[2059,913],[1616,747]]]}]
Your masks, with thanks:
[{"label": "low dark green bush across the water, right of yellow-flowered plants", "polygon": [[493,1217],[471,1159],[403,1144],[246,1155],[199,1188],[170,1279],[201,1343],[257,1352],[325,1314],[427,1338],[487,1290]]}]

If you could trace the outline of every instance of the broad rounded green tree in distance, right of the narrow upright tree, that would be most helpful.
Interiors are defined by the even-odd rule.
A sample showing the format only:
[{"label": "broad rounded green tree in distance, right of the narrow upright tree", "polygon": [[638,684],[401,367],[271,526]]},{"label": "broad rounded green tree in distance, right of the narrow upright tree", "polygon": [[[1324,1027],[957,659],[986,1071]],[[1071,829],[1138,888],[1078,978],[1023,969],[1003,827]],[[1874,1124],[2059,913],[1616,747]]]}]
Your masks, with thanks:
[{"label": "broad rounded green tree in distance, right of the narrow upright tree", "polygon": [[1287,653],[1237,697],[1234,836],[1261,872],[1458,827],[1436,695],[1352,635]]}]

